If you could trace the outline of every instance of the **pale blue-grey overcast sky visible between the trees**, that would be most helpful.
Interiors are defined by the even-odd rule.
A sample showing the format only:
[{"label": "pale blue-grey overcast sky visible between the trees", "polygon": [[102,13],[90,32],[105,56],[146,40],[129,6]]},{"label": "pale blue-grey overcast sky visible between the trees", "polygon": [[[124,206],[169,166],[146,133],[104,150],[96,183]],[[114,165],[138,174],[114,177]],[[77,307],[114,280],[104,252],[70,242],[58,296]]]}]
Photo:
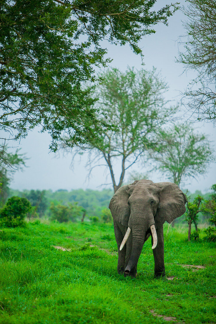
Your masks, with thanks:
[{"label": "pale blue-grey overcast sky visible between the trees", "polygon": [[[158,1],[157,6],[163,6],[170,1]],[[181,5],[185,2],[181,1]],[[175,57],[178,57],[178,47],[180,46],[179,36],[185,33],[182,26],[184,20],[182,12],[177,12],[173,17],[169,18],[169,26],[162,24],[156,26],[156,33],[144,38],[140,42],[140,46],[144,53],[145,69],[150,70],[156,67],[161,71],[162,76],[168,83],[170,90],[166,94],[166,98],[170,100],[180,101],[180,91],[184,91],[191,78],[195,76],[193,72],[183,73],[184,67],[182,64],[175,63]],[[141,69],[141,59],[135,55],[129,46],[120,47],[119,45],[105,45],[108,49],[108,56],[113,59],[110,66],[117,67],[125,71],[127,66],[134,66]],[[183,112],[182,108],[182,112]],[[183,112],[185,120],[189,118]],[[209,139],[215,147],[216,128],[211,123],[196,123],[194,125],[199,132],[209,134]],[[101,186],[105,182],[110,182],[108,172],[105,172],[104,167],[94,168],[90,179],[87,179],[88,170],[85,167],[87,155],[84,154],[81,159],[76,157],[73,169],[70,168],[72,156],[71,154],[63,156],[63,154],[49,153],[49,144],[51,138],[47,133],[39,133],[39,129],[31,131],[25,139],[21,139],[18,145],[21,148],[20,153],[26,153],[28,161],[23,171],[18,171],[14,175],[14,180],[11,183],[11,188],[24,189],[98,189],[112,188],[111,185]],[[73,154],[73,153],[72,153]],[[115,165],[116,172],[120,171],[118,163]],[[148,170],[142,168],[140,165],[135,165],[129,169],[129,172],[139,171],[146,172]],[[126,174],[125,182],[128,175]],[[154,182],[167,181],[162,174],[158,172],[151,172],[149,178]],[[198,179],[190,179],[183,188],[190,191],[201,190],[203,192],[209,190],[211,185],[216,183],[216,167],[211,164],[208,172]]]}]

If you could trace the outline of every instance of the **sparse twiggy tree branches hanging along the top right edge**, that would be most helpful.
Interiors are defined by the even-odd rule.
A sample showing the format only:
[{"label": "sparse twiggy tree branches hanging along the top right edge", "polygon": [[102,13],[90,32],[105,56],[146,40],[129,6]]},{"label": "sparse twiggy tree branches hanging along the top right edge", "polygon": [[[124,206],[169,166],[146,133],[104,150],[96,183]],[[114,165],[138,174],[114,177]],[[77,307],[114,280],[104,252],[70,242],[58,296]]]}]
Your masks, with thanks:
[{"label": "sparse twiggy tree branches hanging along the top right edge", "polygon": [[[197,77],[189,84],[185,98],[189,109],[197,113],[198,120],[216,119],[216,1],[188,0],[183,8],[188,17],[185,22],[187,39],[185,51],[178,62],[186,70],[193,69]],[[183,98],[184,101],[184,98]]]}]

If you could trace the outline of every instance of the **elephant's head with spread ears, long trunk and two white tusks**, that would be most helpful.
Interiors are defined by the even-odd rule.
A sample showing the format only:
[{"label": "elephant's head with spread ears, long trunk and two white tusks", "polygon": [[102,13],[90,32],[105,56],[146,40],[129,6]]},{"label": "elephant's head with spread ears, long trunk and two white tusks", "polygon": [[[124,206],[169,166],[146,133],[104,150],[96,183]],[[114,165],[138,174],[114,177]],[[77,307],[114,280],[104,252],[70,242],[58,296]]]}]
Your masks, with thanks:
[{"label": "elephant's head with spread ears, long trunk and two white tusks", "polygon": [[132,250],[125,273],[129,274],[138,262],[144,242],[152,235],[152,249],[157,246],[156,229],[167,221],[185,213],[186,198],[179,187],[171,182],[154,183],[139,180],[118,189],[110,201],[114,221],[127,227],[120,250],[132,231]]}]

